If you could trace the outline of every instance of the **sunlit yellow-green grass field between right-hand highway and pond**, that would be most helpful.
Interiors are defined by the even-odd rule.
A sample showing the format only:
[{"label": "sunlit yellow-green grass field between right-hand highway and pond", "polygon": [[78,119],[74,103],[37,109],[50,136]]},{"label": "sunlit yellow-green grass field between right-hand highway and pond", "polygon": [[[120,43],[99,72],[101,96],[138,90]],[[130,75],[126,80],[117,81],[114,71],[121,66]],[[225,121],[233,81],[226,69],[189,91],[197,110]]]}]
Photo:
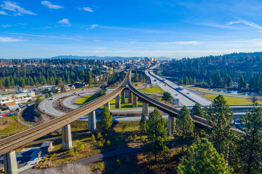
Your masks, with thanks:
[{"label": "sunlit yellow-green grass field between right-hand highway and pond", "polygon": [[[204,97],[210,99],[210,100],[214,100],[214,98],[216,98],[218,95],[210,95],[210,94],[206,94],[203,95]],[[249,101],[249,99],[246,98],[240,98],[240,97],[228,97],[228,96],[223,96],[225,98],[225,100],[227,101],[228,105],[252,105],[252,102]],[[259,104],[262,104],[262,101],[258,101]]]}]

